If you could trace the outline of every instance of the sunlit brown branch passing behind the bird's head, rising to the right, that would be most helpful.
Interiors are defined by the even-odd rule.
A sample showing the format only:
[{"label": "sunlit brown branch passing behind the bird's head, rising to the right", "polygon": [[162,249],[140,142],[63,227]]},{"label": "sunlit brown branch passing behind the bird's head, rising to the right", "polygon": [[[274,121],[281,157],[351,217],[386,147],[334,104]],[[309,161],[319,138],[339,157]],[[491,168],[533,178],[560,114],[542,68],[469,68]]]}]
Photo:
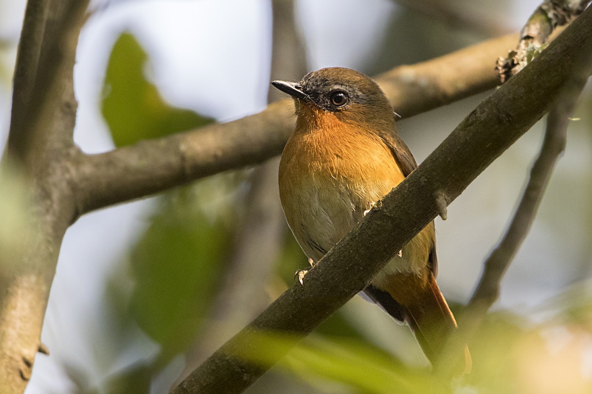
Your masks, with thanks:
[{"label": "sunlit brown branch passing behind the bird's head, rising to the right", "polygon": [[[495,87],[491,59],[516,39],[508,35],[397,67],[381,74],[378,82],[395,110],[407,118]],[[292,103],[284,100],[234,122],[82,157],[75,174],[78,210],[86,213],[216,172],[259,164],[281,152],[294,127],[292,113]]]}]

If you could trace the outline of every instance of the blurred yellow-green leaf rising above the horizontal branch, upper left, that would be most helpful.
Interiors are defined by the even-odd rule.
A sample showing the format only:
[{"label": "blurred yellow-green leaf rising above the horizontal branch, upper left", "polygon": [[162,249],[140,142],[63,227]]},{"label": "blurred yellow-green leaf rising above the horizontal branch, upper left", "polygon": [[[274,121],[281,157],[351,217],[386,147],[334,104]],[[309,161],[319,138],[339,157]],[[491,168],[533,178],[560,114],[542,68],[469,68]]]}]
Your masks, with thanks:
[{"label": "blurred yellow-green leaf rising above the horizontal branch, upper left", "polygon": [[197,113],[166,104],[144,77],[146,52],[130,33],[121,34],[107,66],[102,114],[115,146],[134,144],[198,128],[211,122]]}]

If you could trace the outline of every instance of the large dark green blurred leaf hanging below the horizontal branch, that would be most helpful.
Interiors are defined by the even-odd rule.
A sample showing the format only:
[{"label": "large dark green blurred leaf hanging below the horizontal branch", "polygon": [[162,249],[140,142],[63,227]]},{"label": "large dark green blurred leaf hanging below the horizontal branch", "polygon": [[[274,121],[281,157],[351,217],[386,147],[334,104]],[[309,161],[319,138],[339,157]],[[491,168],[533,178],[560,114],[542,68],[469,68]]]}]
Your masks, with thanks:
[{"label": "large dark green blurred leaf hanging below the horizontal branch", "polygon": [[197,335],[230,244],[224,220],[208,217],[194,194],[187,187],[166,196],[131,253],[131,313],[169,354],[184,350]]}]

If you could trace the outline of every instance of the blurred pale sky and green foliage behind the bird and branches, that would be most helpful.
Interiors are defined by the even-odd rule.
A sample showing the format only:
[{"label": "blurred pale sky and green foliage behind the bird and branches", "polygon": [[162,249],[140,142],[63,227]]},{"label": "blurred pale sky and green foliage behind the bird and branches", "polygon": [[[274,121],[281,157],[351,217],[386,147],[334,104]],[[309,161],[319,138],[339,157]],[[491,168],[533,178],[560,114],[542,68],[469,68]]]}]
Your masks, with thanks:
[{"label": "blurred pale sky and green foliage behind the bird and branches", "polygon": [[[96,1],[75,67],[75,141],[104,152],[231,121],[278,99],[268,95],[270,80],[326,66],[373,75],[427,60],[519,30],[537,5]],[[0,0],[2,149],[24,6]],[[417,161],[490,93],[400,121]],[[471,344],[474,373],[457,392],[592,390],[590,89],[574,118],[533,229]],[[453,310],[468,301],[511,219],[543,127],[487,168],[448,220],[436,219],[438,282]],[[43,327],[51,355],[37,356],[27,394],[168,392],[291,285],[308,263],[279,206],[277,163],[96,211],[70,227]],[[247,392],[422,392],[427,366],[407,327],[355,297]]]}]

